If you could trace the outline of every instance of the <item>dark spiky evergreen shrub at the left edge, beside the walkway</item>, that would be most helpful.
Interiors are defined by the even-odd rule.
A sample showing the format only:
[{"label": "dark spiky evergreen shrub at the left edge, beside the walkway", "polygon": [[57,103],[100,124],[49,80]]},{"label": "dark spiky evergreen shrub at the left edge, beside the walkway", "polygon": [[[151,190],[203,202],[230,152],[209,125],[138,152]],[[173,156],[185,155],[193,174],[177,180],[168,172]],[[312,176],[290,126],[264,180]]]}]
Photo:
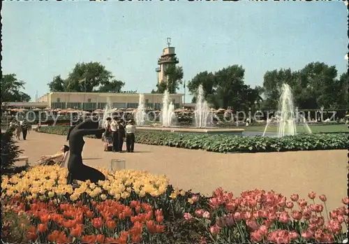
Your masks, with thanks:
[{"label": "dark spiky evergreen shrub at the left edge, beside the walkway", "polygon": [[23,150],[15,144],[13,131],[1,132],[1,171],[12,168]]}]

